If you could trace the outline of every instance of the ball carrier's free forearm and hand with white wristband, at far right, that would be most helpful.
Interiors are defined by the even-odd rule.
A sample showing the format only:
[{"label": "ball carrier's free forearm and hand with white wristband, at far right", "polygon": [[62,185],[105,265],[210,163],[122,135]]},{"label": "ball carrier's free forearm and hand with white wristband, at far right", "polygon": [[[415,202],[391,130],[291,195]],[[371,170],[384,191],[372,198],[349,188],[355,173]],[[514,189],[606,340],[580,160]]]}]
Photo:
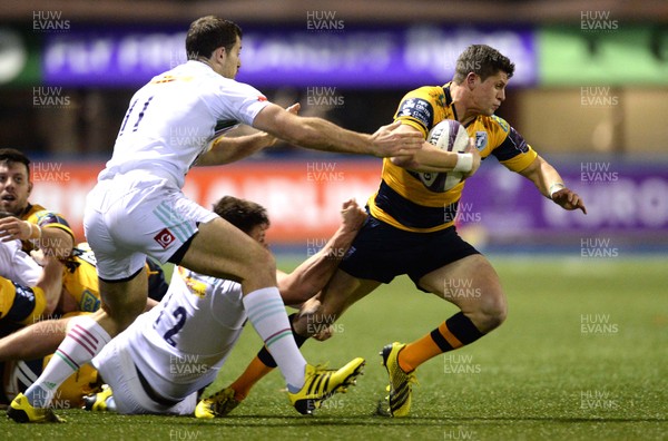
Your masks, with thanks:
[{"label": "ball carrier's free forearm and hand with white wristband, at far right", "polygon": [[520,175],[531,180],[540,193],[563,209],[581,209],[587,214],[584,202],[569,189],[554,167],[538,156]]}]

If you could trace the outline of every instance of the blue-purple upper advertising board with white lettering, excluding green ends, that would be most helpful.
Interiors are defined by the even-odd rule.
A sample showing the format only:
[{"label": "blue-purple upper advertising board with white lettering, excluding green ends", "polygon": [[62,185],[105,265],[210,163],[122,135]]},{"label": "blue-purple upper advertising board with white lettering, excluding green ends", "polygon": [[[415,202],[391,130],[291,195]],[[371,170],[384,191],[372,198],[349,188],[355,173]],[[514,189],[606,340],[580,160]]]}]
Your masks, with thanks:
[{"label": "blue-purple upper advertising board with white lettering, excluding green ends", "polygon": [[[314,18],[315,20],[315,18]],[[536,82],[530,28],[244,27],[237,79],[256,87],[412,87],[449,81],[459,53],[489,43],[518,66],[513,84]],[[334,21],[335,22],[335,21]],[[335,22],[336,23],[336,22]],[[326,28],[326,29],[325,29]],[[77,28],[43,36],[43,80],[56,86],[136,87],[185,61],[184,28]]]}]

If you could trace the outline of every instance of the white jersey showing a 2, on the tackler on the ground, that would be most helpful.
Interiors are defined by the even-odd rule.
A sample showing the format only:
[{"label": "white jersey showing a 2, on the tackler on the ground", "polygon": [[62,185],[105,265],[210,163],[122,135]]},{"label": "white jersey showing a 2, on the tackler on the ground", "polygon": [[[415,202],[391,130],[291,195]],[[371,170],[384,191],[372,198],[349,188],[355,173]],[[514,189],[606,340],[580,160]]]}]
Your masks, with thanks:
[{"label": "white jersey showing a 2, on the tackler on the ground", "polygon": [[154,392],[167,400],[184,400],[212,383],[246,322],[242,300],[242,286],[236,282],[175,268],[163,301],[94,360],[115,391],[117,404],[122,405],[119,401],[124,400],[115,386],[119,373],[105,366],[119,349],[149,379]]}]

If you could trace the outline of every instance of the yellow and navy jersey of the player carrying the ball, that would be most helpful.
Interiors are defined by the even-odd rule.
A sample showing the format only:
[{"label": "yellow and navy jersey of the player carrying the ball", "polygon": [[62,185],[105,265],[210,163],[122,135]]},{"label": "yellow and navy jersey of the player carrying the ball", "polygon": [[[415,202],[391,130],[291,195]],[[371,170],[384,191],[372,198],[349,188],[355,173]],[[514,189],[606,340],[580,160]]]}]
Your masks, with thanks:
[{"label": "yellow and navy jersey of the player carrying the ball", "polygon": [[[456,120],[450,84],[410,91],[401,100],[394,119],[416,128],[425,139],[436,124],[444,119]],[[538,156],[514,128],[495,115],[479,115],[465,128],[475,139],[483,159],[493,155],[510,170],[523,170]],[[367,203],[371,215],[396,228],[415,233],[450,227],[454,224],[464,182],[444,190],[438,184],[444,182],[445,174],[438,175],[441,176],[425,183],[418,173],[395,166],[385,158],[381,186]]]}]

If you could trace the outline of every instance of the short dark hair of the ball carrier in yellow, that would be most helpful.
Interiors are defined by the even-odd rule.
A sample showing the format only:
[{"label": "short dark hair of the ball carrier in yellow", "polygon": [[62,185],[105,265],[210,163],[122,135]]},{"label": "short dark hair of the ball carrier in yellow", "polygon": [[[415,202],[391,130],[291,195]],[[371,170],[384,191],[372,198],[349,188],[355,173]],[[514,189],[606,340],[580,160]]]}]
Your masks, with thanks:
[{"label": "short dark hair of the ball carrier in yellow", "polygon": [[500,70],[508,74],[510,79],[514,74],[514,63],[490,46],[471,45],[456,59],[452,81],[461,85],[469,72],[478,75],[484,81]]}]

